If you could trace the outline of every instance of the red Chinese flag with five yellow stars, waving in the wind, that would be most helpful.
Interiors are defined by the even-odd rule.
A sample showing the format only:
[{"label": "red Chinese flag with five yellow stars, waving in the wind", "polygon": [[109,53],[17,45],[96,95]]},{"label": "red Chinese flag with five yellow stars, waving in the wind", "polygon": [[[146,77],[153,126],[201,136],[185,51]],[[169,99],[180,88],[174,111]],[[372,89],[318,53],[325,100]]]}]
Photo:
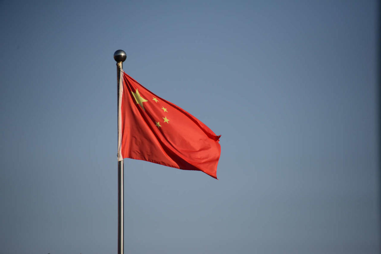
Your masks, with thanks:
[{"label": "red Chinese flag with five yellow stars, waving in the wind", "polygon": [[120,160],[131,158],[199,170],[217,179],[220,136],[123,71],[122,79],[123,86],[119,88]]}]

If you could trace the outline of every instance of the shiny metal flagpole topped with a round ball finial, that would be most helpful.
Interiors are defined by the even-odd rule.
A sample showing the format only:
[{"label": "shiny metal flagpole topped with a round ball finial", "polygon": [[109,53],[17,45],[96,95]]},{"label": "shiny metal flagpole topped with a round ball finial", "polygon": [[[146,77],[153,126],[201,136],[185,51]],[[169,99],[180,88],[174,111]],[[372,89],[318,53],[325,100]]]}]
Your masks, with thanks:
[{"label": "shiny metal flagpole topped with a round ball finial", "polygon": [[[126,52],[117,50],[114,53],[114,59],[117,62],[117,105],[118,105],[118,254],[124,253],[124,175],[123,175],[123,158],[120,155],[120,142],[121,142],[121,117],[120,117],[120,104],[119,97],[120,91],[123,89],[121,81],[121,73],[123,69],[123,62],[126,60]],[[120,87],[122,86],[122,87]]]}]

